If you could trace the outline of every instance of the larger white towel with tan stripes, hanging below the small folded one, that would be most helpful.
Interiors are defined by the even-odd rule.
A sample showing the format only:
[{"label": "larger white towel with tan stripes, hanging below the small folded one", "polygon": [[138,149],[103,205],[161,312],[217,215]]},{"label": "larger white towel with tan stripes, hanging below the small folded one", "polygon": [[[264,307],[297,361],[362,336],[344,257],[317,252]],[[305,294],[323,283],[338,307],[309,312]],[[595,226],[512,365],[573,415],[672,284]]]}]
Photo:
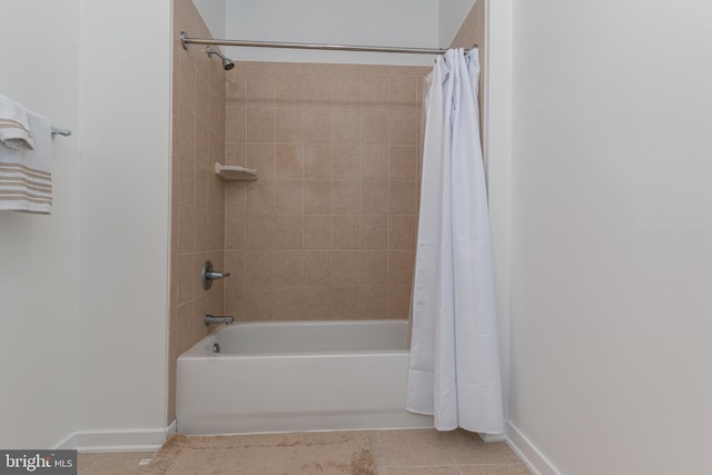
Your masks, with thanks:
[{"label": "larger white towel with tan stripes, hanging below the small folded one", "polygon": [[0,144],[0,210],[52,210],[52,128],[44,117],[27,111],[34,150],[16,150]]}]

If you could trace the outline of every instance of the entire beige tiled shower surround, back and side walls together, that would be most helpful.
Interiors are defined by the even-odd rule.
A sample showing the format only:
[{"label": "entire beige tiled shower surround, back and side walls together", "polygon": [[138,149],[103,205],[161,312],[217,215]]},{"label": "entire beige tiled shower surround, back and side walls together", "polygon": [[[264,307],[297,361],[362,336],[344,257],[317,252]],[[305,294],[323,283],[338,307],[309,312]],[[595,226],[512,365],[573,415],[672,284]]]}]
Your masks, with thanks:
[{"label": "entire beige tiled shower surround, back and side walls together", "polygon": [[[485,51],[485,8],[475,3],[452,47]],[[182,30],[211,37],[190,0],[174,0],[168,423],[176,358],[208,331],[206,313],[407,318],[431,70],[237,62],[226,72],[204,47],[184,50]],[[259,179],[224,182],[216,161]],[[233,273],[208,291],[207,258]]]}]

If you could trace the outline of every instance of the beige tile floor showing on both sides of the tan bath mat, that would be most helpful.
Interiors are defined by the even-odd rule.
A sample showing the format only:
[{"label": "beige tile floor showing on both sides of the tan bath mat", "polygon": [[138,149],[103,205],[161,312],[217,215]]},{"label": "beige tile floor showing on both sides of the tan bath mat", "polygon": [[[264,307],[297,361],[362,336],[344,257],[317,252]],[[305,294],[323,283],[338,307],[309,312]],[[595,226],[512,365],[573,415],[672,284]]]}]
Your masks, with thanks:
[{"label": "beige tile floor showing on both sides of the tan bath mat", "polygon": [[[505,443],[464,431],[372,431],[378,475],[531,475]],[[79,454],[79,475],[139,474],[150,452]],[[210,473],[206,467],[206,474]],[[245,474],[253,475],[253,474]]]}]

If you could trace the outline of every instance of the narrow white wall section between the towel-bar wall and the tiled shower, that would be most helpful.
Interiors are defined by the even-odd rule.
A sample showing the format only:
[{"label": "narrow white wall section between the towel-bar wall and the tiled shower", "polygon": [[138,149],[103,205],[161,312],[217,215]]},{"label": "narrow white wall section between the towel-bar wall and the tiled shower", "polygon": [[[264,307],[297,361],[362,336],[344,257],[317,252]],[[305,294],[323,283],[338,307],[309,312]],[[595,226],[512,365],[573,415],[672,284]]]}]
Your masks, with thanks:
[{"label": "narrow white wall section between the towel-bar wall and the tiled shower", "polygon": [[81,1],[79,427],[107,445],[165,427],[170,26],[168,0]]}]

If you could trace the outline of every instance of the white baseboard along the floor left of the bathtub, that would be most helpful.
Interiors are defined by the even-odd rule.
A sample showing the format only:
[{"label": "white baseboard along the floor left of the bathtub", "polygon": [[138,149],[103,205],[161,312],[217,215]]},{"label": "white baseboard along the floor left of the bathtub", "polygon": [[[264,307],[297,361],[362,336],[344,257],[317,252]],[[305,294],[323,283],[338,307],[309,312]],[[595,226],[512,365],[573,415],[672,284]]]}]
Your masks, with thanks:
[{"label": "white baseboard along the floor left of the bathtub", "polygon": [[55,448],[79,452],[155,452],[176,432],[176,420],[158,429],[79,431]]}]

